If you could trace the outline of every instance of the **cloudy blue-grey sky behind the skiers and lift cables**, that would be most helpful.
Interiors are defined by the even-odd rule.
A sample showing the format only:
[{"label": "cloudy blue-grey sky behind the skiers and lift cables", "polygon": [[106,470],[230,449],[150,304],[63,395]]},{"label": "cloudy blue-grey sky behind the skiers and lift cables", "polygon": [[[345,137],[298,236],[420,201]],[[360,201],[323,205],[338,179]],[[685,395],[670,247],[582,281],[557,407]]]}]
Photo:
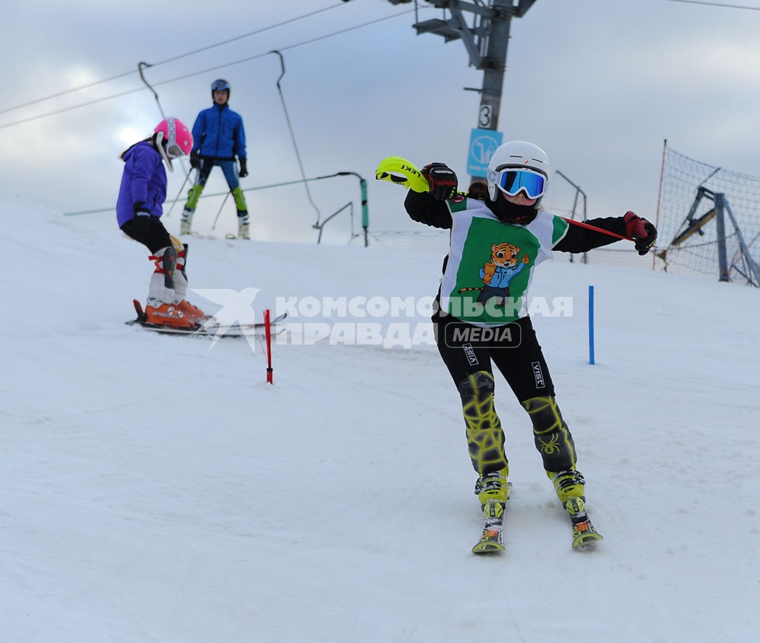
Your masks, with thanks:
[{"label": "cloudy blue-grey sky behind the skiers and lift cables", "polygon": [[[727,2],[742,3],[760,7],[755,0]],[[321,8],[328,10],[182,56]],[[165,112],[192,125],[211,105],[211,81],[226,78],[248,138],[243,187],[299,179],[277,93],[280,62],[267,55],[281,49],[283,95],[306,175],[365,176],[371,229],[408,230],[404,192],[372,180],[375,166],[389,155],[418,166],[444,161],[466,183],[479,97],[463,87],[480,87],[482,72],[468,67],[461,42],[416,36],[413,13],[299,43],[410,8],[387,0],[8,3],[0,42],[0,188],[62,213],[111,207],[122,172],[118,155],[160,120],[153,95],[140,89],[138,62],[177,56],[147,70],[149,81],[160,83]],[[440,16],[420,2],[420,20]],[[686,156],[760,176],[758,33],[760,11],[670,0],[537,0],[512,22],[499,129],[505,140],[543,147],[553,168],[584,188],[590,217],[629,209],[654,217],[665,138]],[[11,109],[129,71],[135,73]],[[170,176],[171,198],[183,178],[181,168]],[[572,190],[556,175],[552,184],[545,204],[572,207]],[[348,201],[359,205],[356,179],[311,185],[322,218]],[[224,189],[216,170],[207,192]],[[315,240],[317,213],[301,185],[247,195],[255,238]],[[231,226],[230,201],[222,220]],[[196,226],[210,227],[220,204],[201,201]],[[167,221],[173,232],[179,205]],[[345,242],[347,221],[331,226],[325,239]]]}]

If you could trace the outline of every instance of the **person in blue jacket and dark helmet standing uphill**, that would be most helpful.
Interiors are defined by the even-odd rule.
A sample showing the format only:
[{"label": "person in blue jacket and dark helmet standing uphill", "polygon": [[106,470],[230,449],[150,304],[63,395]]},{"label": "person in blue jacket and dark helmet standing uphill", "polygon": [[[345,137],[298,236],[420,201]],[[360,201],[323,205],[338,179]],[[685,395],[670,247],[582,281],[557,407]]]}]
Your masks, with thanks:
[{"label": "person in blue jacket and dark helmet standing uphill", "polygon": [[[239,182],[239,179],[248,176],[242,118],[227,104],[230,100],[230,84],[227,81],[220,78],[211,84],[211,98],[214,99],[214,105],[201,110],[192,128],[195,142],[190,154],[190,165],[198,172],[195,174],[195,185],[188,192],[179,233],[190,234],[198,198],[203,192],[211,169],[218,165],[235,199],[238,236],[242,239],[250,239],[248,206],[245,204],[245,196]],[[240,160],[239,173],[235,157]]]}]

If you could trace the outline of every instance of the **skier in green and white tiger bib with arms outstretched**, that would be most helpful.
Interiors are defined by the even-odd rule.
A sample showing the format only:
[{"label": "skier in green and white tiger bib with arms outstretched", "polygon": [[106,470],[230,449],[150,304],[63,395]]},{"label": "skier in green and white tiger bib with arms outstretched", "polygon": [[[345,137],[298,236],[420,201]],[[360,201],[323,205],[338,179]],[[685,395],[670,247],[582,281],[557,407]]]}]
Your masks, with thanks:
[{"label": "skier in green and white tiger bib with arms outstretched", "polygon": [[[570,226],[540,209],[549,159],[534,144],[511,141],[496,150],[488,166],[487,195],[483,183],[473,184],[467,198],[455,195],[457,177],[444,163],[430,163],[422,174],[430,191],[410,190],[404,206],[413,220],[451,230],[432,321],[439,352],[461,396],[470,459],[478,474],[475,493],[486,527],[489,520],[500,523],[508,499],[504,432],[493,405],[493,362],[530,416],[543,468],[572,517],[573,546],[599,540],[587,521],[575,445],[523,302],[534,268],[551,251],[587,252],[617,239]],[[587,223],[632,237],[639,255],[647,254],[657,238],[654,226],[633,212]],[[497,333],[496,340],[481,339],[484,329],[505,327],[510,332]],[[473,551],[503,547],[499,542],[477,548]]]}]

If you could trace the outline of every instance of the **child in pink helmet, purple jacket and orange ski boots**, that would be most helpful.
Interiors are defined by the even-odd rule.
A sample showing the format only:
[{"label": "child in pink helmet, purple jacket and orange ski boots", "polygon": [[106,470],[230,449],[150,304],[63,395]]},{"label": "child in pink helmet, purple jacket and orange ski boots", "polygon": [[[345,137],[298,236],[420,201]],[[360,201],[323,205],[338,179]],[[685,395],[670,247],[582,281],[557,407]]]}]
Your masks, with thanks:
[{"label": "child in pink helmet, purple jacket and orange ski boots", "polygon": [[172,159],[192,150],[192,134],[179,119],[161,121],[154,134],[125,150],[122,185],[116,203],[116,218],[122,231],[150,250],[156,270],[150,278],[147,322],[176,328],[194,328],[207,320],[201,309],[185,300],[187,245],[170,236],[163,227],[166,201],[166,169],[173,171]]}]

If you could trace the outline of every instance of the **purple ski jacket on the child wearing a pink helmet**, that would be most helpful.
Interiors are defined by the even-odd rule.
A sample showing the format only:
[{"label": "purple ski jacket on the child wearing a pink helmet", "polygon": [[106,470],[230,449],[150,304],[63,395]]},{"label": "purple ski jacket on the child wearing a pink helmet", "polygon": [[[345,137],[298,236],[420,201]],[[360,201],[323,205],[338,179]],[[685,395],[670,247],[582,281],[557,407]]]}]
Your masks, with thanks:
[{"label": "purple ski jacket on the child wearing a pink helmet", "polygon": [[116,201],[119,227],[135,216],[135,201],[145,201],[154,217],[163,214],[166,201],[166,169],[161,155],[149,141],[133,145],[124,155],[124,174]]}]

